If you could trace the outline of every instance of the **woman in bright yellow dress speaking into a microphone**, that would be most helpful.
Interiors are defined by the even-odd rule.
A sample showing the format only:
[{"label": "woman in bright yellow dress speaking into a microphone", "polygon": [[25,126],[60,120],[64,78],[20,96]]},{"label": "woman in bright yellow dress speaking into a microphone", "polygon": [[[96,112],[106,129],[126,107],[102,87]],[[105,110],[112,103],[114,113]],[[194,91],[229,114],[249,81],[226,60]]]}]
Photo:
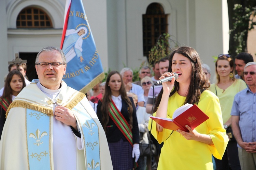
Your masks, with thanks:
[{"label": "woman in bright yellow dress speaking into a microphone", "polygon": [[182,105],[196,104],[209,119],[191,129],[172,131],[149,120],[148,129],[159,143],[163,142],[158,169],[212,170],[212,154],[221,159],[228,137],[223,128],[221,107],[218,98],[209,90],[198,53],[191,47],[179,47],[169,56],[168,72],[160,80],[174,75],[179,78],[162,83],[153,111],[154,116],[172,118],[174,111]]}]

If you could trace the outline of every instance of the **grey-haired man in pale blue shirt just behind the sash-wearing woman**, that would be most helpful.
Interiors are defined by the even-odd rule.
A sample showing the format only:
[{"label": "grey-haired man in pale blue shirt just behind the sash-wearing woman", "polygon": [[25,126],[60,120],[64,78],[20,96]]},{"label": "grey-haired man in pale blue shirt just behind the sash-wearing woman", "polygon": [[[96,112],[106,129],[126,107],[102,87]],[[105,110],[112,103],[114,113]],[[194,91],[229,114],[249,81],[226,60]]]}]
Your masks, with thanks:
[{"label": "grey-haired man in pale blue shirt just behind the sash-wearing woman", "polygon": [[136,94],[138,96],[138,105],[144,106],[144,90],[141,86],[132,83],[132,69],[125,67],[120,71],[120,74],[122,75],[126,91]]}]

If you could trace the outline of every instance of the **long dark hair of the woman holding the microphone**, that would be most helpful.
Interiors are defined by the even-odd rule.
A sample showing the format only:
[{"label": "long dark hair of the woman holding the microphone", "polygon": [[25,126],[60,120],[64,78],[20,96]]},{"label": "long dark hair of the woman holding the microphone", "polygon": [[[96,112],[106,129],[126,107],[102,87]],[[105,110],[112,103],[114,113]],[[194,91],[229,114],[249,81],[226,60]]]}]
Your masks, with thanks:
[{"label": "long dark hair of the woman holding the microphone", "polygon": [[[169,56],[168,72],[172,72],[172,58],[175,53],[178,53],[183,55],[184,57],[187,57],[190,60],[192,65],[190,85],[189,85],[188,94],[184,104],[198,103],[200,99],[201,91],[203,89],[208,89],[210,87],[210,81],[206,78],[203,72],[199,55],[196,52],[196,50],[191,47],[178,47],[174,49]],[[170,93],[169,97],[171,97],[176,91],[178,91],[179,87],[180,87],[179,82],[175,81],[173,90]],[[163,89],[160,91],[159,95],[156,98],[156,103],[153,109],[154,112],[157,111],[157,107],[160,104],[162,93],[163,93]]]}]

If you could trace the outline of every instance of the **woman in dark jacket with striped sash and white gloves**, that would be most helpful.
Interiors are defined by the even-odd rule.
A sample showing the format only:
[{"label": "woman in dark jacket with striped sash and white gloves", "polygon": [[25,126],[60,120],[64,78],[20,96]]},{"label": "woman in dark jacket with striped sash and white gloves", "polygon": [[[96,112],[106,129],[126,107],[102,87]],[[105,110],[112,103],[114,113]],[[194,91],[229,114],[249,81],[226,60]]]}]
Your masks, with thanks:
[{"label": "woman in dark jacket with striped sash and white gloves", "polygon": [[132,169],[134,160],[137,162],[140,156],[139,128],[136,107],[132,98],[127,97],[118,71],[111,71],[106,79],[97,116],[106,133],[113,169]]}]

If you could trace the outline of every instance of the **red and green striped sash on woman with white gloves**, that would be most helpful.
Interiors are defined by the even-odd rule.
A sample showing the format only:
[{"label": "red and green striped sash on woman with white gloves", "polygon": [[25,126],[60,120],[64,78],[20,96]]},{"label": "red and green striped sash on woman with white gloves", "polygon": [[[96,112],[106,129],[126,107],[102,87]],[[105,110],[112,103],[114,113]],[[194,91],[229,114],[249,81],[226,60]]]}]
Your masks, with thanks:
[{"label": "red and green striped sash on woman with white gloves", "polygon": [[126,139],[131,144],[131,146],[133,146],[131,128],[128,122],[125,120],[122,113],[120,113],[120,111],[117,109],[112,99],[110,102],[109,112],[110,112],[109,115],[111,119],[117,125],[118,129],[123,133],[123,135],[126,137]]}]

